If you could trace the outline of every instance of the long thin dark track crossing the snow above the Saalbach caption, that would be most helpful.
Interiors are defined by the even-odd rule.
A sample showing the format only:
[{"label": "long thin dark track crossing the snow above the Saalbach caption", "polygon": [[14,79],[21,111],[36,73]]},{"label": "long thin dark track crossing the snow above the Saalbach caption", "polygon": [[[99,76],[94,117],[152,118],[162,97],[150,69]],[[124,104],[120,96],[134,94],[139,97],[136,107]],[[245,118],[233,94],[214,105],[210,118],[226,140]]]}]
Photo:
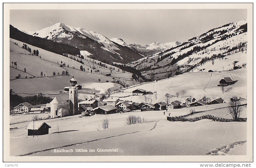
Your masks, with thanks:
[{"label": "long thin dark track crossing the snow above the Saalbach caption", "polygon": [[58,148],[62,148],[62,147],[70,147],[70,146],[74,146],[74,145],[78,145],[78,144],[85,144],[85,143],[94,142],[94,141],[100,141],[100,140],[104,140],[104,139],[108,139],[108,138],[119,137],[119,136],[123,136],[123,135],[127,135],[127,134],[137,133],[137,132],[140,132],[140,131],[135,131],[135,132],[126,133],[126,134],[120,134],[120,135],[115,135],[115,136],[105,137],[105,138],[100,138],[100,139],[95,139],[95,140],[90,140],[90,141],[86,141],[86,142],[79,142],[79,143],[75,143],[75,144],[64,145],[61,147],[53,147],[53,148],[49,148],[49,149],[38,150],[35,152],[30,152],[30,153],[26,153],[26,154],[22,154],[22,155],[17,155],[17,156],[27,156],[27,155],[31,155],[34,153],[40,153],[40,152],[45,152],[45,151],[49,151],[49,150],[53,150],[53,149],[58,149]]}]

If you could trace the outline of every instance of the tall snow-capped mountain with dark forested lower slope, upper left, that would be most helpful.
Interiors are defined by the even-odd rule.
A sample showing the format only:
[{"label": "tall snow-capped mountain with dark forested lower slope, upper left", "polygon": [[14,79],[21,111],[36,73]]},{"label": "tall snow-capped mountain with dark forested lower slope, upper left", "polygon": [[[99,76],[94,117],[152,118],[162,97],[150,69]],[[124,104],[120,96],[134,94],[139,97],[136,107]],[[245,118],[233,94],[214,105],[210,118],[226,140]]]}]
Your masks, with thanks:
[{"label": "tall snow-capped mountain with dark forested lower slope, upper left", "polygon": [[129,63],[143,57],[138,51],[127,48],[127,45],[113,42],[102,34],[64,23],[56,23],[36,31],[33,36],[72,45],[83,52],[91,53],[89,57],[101,61]]}]

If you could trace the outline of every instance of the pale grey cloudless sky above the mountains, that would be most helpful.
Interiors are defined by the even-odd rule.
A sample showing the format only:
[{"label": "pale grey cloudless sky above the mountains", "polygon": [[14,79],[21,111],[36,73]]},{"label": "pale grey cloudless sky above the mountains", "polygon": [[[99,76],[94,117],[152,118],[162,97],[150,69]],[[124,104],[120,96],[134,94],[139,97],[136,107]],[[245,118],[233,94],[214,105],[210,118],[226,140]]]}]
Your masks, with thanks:
[{"label": "pale grey cloudless sky above the mountains", "polygon": [[244,19],[246,9],[10,10],[10,24],[22,31],[38,31],[61,22],[141,45],[184,42]]}]

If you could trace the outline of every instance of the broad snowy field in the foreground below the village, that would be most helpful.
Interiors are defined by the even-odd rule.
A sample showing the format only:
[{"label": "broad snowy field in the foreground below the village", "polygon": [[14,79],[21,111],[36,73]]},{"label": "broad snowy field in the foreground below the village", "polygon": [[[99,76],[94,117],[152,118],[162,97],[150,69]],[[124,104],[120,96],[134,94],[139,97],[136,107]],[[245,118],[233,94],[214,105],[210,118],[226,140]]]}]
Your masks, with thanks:
[{"label": "broad snowy field in the foreground below the village", "polygon": [[[207,109],[201,106],[201,109]],[[11,156],[109,156],[109,155],[244,155],[246,154],[247,122],[216,122],[208,119],[197,122],[167,121],[167,114],[179,116],[189,113],[189,108],[163,111],[143,111],[94,115],[80,115],[44,120],[52,128],[49,134],[27,136],[30,122],[10,125]],[[222,117],[227,108],[208,111]],[[200,113],[199,113],[200,114]],[[204,113],[202,113],[204,114]],[[126,125],[129,115],[145,118],[141,124]],[[196,114],[197,115],[197,114]],[[195,116],[195,115],[193,115]],[[246,108],[243,110],[246,116]],[[101,123],[109,119],[109,128]],[[26,118],[23,118],[26,120]],[[58,133],[59,128],[59,133]],[[225,129],[223,129],[225,128]],[[201,138],[204,136],[204,138]],[[227,147],[230,153],[223,147]],[[97,152],[97,149],[117,149],[118,152]],[[17,150],[19,149],[19,150]],[[70,150],[71,153],[56,153]],[[75,152],[76,149],[88,152]],[[94,149],[96,152],[89,152]],[[237,149],[237,150],[236,150]],[[225,153],[226,152],[226,153]]]}]

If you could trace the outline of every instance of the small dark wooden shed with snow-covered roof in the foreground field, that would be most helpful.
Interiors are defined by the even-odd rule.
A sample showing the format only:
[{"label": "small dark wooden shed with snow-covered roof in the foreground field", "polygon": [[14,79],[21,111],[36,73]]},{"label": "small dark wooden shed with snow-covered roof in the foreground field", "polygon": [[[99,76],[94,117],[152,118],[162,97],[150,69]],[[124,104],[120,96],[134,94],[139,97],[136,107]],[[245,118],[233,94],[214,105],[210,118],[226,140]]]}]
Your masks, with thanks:
[{"label": "small dark wooden shed with snow-covered roof in the foreground field", "polygon": [[42,121],[32,121],[27,126],[28,135],[45,135],[49,134],[50,125]]}]

